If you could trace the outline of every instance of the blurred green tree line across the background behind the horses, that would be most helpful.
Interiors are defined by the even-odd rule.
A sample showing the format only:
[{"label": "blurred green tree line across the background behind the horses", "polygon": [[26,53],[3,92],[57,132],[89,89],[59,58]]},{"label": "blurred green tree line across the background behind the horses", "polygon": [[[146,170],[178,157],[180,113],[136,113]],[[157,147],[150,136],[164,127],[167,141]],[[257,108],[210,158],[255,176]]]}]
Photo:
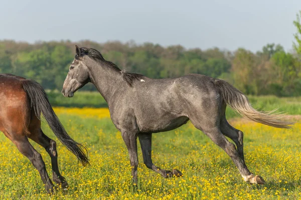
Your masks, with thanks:
[{"label": "blurred green tree line across the background behind the horses", "polygon": [[[202,50],[181,45],[161,46],[134,41],[122,43],[90,40],[79,42],[17,42],[0,40],[0,72],[35,79],[46,89],[61,89],[75,55],[75,44],[99,50],[119,68],[152,78],[167,78],[200,73],[222,78],[242,92],[253,95],[301,94],[301,25],[300,13],[293,22],[297,28],[293,51],[285,52],[280,44],[268,43],[257,52],[245,48],[235,51],[217,47]],[[82,89],[94,90],[91,84]]]}]

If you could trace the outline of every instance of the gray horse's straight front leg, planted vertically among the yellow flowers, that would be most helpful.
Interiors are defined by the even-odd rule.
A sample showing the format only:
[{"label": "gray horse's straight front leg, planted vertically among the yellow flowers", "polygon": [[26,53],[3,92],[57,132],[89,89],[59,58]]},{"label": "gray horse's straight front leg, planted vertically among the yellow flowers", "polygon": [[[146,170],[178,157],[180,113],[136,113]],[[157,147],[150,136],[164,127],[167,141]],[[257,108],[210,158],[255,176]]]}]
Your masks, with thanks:
[{"label": "gray horse's straight front leg, planted vertically among the yellow flowers", "polygon": [[138,167],[138,155],[137,155],[137,132],[122,130],[122,138],[128,150],[129,160],[133,183],[137,183],[137,167]]}]

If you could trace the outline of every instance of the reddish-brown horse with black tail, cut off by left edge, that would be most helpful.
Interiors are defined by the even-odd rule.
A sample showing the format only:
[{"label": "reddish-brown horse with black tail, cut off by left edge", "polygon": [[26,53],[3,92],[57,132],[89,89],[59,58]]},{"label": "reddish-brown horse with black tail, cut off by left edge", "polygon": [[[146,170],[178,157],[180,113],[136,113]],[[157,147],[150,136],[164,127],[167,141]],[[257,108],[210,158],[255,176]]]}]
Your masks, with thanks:
[{"label": "reddish-brown horse with black tail, cut off by left edge", "polygon": [[47,192],[53,192],[54,184],[48,176],[41,154],[30,144],[28,138],[46,149],[51,157],[53,181],[63,188],[67,187],[68,183],[58,167],[56,142],[41,129],[41,113],[58,139],[83,165],[88,164],[89,160],[84,152],[85,147],[67,134],[53,111],[45,90],[34,80],[0,73],[0,96],[0,130],[38,169]]}]

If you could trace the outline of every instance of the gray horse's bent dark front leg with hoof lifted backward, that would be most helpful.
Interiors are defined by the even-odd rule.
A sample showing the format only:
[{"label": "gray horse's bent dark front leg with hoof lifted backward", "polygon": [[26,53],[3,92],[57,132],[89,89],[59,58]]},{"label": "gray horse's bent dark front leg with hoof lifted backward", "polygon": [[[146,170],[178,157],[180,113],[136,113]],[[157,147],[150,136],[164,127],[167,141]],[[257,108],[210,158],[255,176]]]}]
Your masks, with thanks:
[{"label": "gray horse's bent dark front leg with hoof lifted backward", "polygon": [[138,134],[142,155],[143,155],[143,161],[147,168],[153,169],[157,173],[160,173],[163,177],[173,177],[182,176],[182,172],[178,169],[173,169],[172,171],[161,169],[155,164],[153,164],[152,161],[152,133],[139,133]]}]

